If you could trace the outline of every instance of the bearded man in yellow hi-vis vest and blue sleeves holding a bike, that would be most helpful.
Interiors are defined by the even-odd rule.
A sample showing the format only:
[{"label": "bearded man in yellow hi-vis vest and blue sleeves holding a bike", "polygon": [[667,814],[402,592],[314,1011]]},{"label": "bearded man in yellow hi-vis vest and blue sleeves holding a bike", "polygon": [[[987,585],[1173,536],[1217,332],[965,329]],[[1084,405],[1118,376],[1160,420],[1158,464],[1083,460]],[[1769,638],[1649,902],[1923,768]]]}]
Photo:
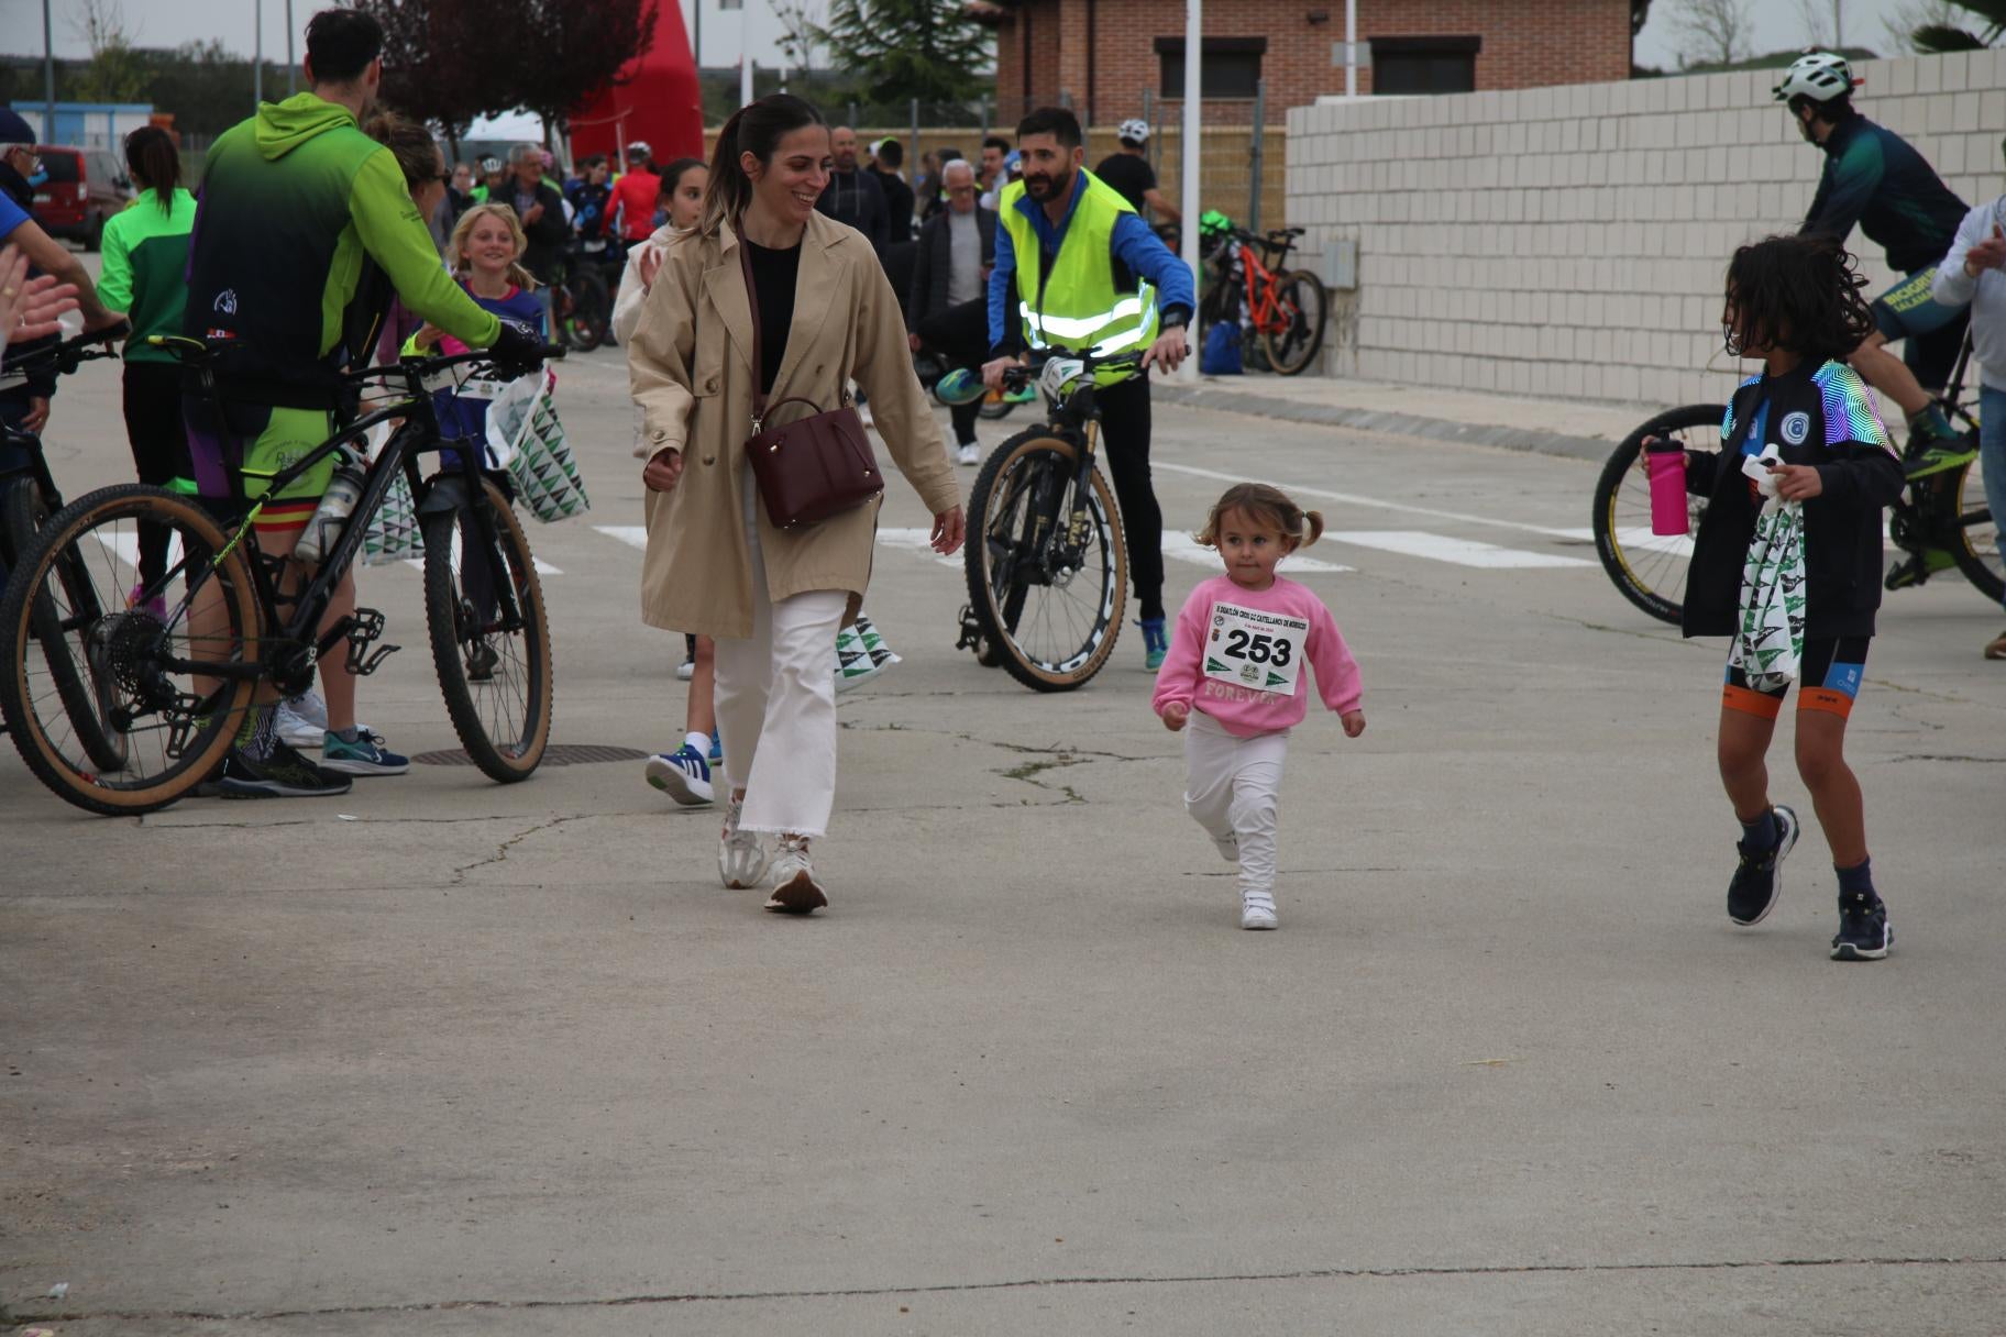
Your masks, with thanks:
[{"label": "bearded man in yellow hi-vis vest and blue sleeves holding a bike", "polygon": [[[1143,367],[1176,371],[1190,353],[1184,327],[1198,301],[1192,271],[1169,253],[1113,186],[1081,166],[1073,112],[1045,106],[1017,124],[1023,180],[997,200],[995,269],[989,275],[989,357],[983,383],[1025,351],[1143,349]],[[1103,385],[1101,441],[1121,527],[1129,579],[1141,603],[1143,655],[1163,663],[1163,511],[1149,485],[1147,371]]]}]

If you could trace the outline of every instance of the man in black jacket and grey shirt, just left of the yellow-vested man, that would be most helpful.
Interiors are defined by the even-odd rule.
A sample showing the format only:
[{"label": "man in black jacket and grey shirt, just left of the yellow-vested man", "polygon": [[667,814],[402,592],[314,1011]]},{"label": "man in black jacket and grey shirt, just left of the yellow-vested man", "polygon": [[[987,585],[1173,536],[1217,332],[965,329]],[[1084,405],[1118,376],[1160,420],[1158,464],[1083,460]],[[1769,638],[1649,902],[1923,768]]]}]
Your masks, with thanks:
[{"label": "man in black jacket and grey shirt, just left of the yellow-vested man", "polygon": [[[931,349],[949,367],[971,371],[989,357],[989,269],[997,259],[997,216],[975,202],[975,166],[955,158],[941,168],[947,208],[919,229],[913,297],[905,327],[913,351]],[[965,465],[981,463],[975,417],[981,399],[957,403],[955,447]]]}]

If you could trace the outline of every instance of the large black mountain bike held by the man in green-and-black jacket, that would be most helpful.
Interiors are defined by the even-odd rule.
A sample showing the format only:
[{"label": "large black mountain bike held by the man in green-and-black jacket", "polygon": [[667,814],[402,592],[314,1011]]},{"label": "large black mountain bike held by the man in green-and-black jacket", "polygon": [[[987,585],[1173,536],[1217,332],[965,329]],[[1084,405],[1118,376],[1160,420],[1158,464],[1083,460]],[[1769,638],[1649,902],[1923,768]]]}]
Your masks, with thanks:
[{"label": "large black mountain bike held by the man in green-and-black jacket", "polygon": [[[227,345],[154,343],[195,369],[201,395],[217,399],[215,369]],[[544,349],[544,357],[562,355]],[[399,423],[305,581],[291,557],[261,551],[263,499],[120,483],[58,511],[0,599],[0,708],[28,770],[88,812],[156,812],[215,772],[261,696],[305,692],[321,655],[347,641],[349,672],[373,674],[397,649],[377,645],[383,613],[357,607],[325,631],[321,619],[401,477],[425,543],[425,621],[447,716],[481,772],[504,784],[528,780],[550,742],[544,591],[510,505],[508,473],[483,467],[479,441],[443,439],[433,411],[433,391],[457,389],[461,377],[526,371],[473,351],[345,375],[369,411],[293,465],[255,475],[275,497],[335,451],[359,447],[379,423]],[[447,457],[425,477],[419,457],[435,451]],[[164,569],[150,579],[136,575],[140,525],[169,535]],[[44,611],[58,639],[40,629]],[[90,700],[78,704],[66,678],[90,684]]]}]

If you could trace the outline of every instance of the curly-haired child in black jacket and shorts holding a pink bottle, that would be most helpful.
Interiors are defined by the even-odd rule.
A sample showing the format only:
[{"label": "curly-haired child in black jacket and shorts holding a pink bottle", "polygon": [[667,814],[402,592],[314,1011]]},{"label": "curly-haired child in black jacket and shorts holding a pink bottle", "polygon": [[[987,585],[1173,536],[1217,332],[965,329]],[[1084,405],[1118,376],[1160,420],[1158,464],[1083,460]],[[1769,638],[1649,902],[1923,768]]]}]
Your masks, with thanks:
[{"label": "curly-haired child in black jacket and shorts holding a pink bottle", "polygon": [[[1880,960],[1894,942],[1874,890],[1860,782],[1846,766],[1846,720],[1860,692],[1882,597],[1882,507],[1902,495],[1902,463],[1866,381],[1842,359],[1874,329],[1854,257],[1825,237],[1769,237],[1735,251],[1721,327],[1761,375],[1735,391],[1721,451],[1685,457],[1685,487],[1707,497],[1685,579],[1685,635],[1735,635],[1753,607],[1745,573],[1765,491],[1803,517],[1797,774],[1840,878],[1833,960]],[[1753,465],[1773,453],[1779,463]],[[1753,473],[1749,473],[1753,469]],[[1761,475],[1757,479],[1757,475]],[[1791,579],[1781,585],[1795,593]],[[1797,814],[1769,802],[1765,756],[1787,682],[1729,653],[1721,694],[1721,784],[1741,822],[1727,916],[1753,926],[1775,906]]]}]

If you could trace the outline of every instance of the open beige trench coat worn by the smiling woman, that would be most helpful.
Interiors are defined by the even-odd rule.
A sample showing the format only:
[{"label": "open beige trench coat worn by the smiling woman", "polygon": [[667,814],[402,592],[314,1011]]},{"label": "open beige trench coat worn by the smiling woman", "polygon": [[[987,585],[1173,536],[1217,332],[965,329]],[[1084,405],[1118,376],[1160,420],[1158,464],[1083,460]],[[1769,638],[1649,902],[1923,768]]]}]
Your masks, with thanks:
[{"label": "open beige trench coat worn by the smiling woman", "polygon": [[[746,549],[742,477],[752,429],[752,305],[738,267],[738,237],[678,233],[628,345],[634,401],[654,453],[684,453],[682,477],[648,493],[642,621],[670,631],[752,633],[752,559]],[[794,283],[794,321],[770,403],[802,395],[834,409],[845,381],[871,399],[879,435],[927,511],[961,505],[947,443],[913,375],[899,299],[863,233],[822,214],[808,218]],[[810,409],[786,405],[774,423]],[[863,593],[879,503],[782,531],[756,507],[766,557],[766,597],[810,589]]]}]

